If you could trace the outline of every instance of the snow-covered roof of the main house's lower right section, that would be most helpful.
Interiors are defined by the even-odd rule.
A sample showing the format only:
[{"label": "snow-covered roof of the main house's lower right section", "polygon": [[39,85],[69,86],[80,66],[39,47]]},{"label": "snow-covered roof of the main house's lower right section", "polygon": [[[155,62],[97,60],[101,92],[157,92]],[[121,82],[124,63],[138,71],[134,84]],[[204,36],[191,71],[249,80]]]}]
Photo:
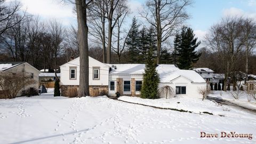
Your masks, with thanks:
[{"label": "snow-covered roof of the main house's lower right section", "polygon": [[[111,67],[110,74],[140,74],[144,73],[145,64],[107,64]],[[159,74],[161,82],[170,82],[173,79],[182,76],[192,82],[204,83],[205,80],[202,76],[194,70],[181,70],[175,65],[158,65],[156,70]]]}]

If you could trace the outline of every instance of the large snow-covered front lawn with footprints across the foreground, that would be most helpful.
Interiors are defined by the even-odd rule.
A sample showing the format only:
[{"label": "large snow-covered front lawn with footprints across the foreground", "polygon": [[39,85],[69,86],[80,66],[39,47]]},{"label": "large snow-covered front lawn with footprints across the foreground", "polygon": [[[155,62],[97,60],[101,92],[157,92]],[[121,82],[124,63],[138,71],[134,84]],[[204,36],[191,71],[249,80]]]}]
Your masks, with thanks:
[{"label": "large snow-covered front lawn with footprints across the foreground", "polygon": [[[181,113],[107,97],[0,100],[0,143],[256,143],[255,126],[256,117]],[[200,138],[222,131],[253,138]]]}]

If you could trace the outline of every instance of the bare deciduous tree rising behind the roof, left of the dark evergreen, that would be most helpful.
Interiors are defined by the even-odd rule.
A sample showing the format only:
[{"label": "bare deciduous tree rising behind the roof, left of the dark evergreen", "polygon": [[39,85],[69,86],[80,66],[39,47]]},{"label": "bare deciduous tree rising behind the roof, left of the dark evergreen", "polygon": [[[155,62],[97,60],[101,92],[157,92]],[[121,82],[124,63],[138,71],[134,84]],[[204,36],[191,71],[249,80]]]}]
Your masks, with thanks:
[{"label": "bare deciduous tree rising behind the roof, left of the dark evergreen", "polygon": [[189,18],[185,8],[190,4],[190,0],[149,0],[146,2],[140,15],[156,28],[157,64],[160,62],[162,43],[172,36],[173,31]]}]

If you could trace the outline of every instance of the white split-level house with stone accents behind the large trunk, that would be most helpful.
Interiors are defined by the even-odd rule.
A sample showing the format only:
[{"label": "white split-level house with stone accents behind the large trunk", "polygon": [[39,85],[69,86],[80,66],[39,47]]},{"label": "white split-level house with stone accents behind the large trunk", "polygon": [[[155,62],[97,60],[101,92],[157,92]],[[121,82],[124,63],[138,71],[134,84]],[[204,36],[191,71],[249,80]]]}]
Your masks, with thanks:
[{"label": "white split-level house with stone accents behind the large trunk", "polygon": [[[140,95],[145,64],[105,64],[89,57],[90,94]],[[200,87],[205,80],[194,70],[180,70],[174,65],[158,65],[159,87],[169,85],[175,94],[201,98]],[[67,96],[69,87],[79,87],[79,58],[60,66],[61,93]]]}]

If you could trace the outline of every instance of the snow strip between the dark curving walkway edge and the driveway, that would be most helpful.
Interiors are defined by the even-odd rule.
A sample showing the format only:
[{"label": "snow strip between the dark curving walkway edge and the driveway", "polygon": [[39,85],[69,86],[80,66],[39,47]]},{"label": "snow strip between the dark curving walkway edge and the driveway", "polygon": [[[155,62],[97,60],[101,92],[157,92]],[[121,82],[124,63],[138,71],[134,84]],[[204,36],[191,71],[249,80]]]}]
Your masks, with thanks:
[{"label": "snow strip between the dark curving walkway edge and the driveway", "polygon": [[204,114],[204,112],[211,113],[213,115],[228,116],[228,117],[244,117],[254,118],[254,115],[245,113],[243,110],[231,108],[229,106],[221,106],[217,102],[210,100],[195,99],[188,97],[175,97],[170,99],[141,99],[139,97],[127,97],[122,96],[118,98],[122,101],[139,103],[142,105],[153,106],[158,108],[170,108],[177,110],[191,111],[196,114]]}]

